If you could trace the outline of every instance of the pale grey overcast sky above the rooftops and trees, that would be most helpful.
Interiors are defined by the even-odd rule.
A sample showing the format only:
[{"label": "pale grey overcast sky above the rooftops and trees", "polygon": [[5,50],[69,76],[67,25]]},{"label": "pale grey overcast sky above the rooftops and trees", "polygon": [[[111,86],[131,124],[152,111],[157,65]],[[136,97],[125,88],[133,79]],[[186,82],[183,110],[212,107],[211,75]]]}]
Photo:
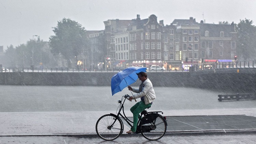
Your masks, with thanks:
[{"label": "pale grey overcast sky above the rooftops and trees", "polygon": [[[151,14],[170,25],[174,19],[196,18],[218,24],[256,21],[256,0],[0,0],[0,46],[25,44],[33,35],[48,41],[62,18],[86,30],[104,30],[108,19],[141,19]],[[35,37],[34,37],[35,38]]]}]

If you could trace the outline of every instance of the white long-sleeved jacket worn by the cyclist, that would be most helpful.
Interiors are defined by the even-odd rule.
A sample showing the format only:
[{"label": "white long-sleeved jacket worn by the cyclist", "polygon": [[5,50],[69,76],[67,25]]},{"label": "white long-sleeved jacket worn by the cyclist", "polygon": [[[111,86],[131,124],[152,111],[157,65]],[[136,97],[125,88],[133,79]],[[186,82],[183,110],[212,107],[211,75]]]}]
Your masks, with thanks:
[{"label": "white long-sleeved jacket worn by the cyclist", "polygon": [[132,88],[132,91],[136,92],[136,94],[132,96],[134,99],[141,98],[144,96],[145,104],[149,104],[153,102],[154,99],[156,98],[153,85],[148,78],[144,81],[141,92],[139,89],[136,89],[136,88]]}]

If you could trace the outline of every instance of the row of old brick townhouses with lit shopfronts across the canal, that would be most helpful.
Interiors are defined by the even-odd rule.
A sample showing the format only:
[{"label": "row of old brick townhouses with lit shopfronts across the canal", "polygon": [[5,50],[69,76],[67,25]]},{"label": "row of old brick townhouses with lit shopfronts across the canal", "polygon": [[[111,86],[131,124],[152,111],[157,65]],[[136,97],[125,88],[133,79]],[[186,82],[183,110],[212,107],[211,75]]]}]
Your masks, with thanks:
[{"label": "row of old brick townhouses with lit shopfronts across the canal", "polygon": [[[157,21],[155,15],[132,20],[104,21],[104,31],[87,31],[97,41],[88,52],[87,65],[114,67],[152,65],[171,70],[188,69],[217,61],[233,61],[237,31],[234,24],[197,23],[193,17],[175,19],[170,25]],[[97,37],[91,37],[96,34]],[[96,50],[97,49],[97,50]],[[99,55],[99,57],[96,57]]]}]

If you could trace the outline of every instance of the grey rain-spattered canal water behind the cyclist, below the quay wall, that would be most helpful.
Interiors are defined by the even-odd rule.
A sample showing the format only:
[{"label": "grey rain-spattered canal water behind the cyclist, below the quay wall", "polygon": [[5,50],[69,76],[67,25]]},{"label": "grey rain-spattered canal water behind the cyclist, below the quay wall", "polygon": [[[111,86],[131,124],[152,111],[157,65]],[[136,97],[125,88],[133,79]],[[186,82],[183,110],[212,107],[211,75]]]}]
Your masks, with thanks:
[{"label": "grey rain-spattered canal water behind the cyclist, below the quay wall", "polygon": [[[136,87],[136,86],[134,86]],[[139,84],[138,86],[139,87]],[[128,88],[111,95],[111,87],[0,85],[0,112],[116,111]],[[256,108],[255,100],[219,102],[221,91],[188,87],[154,87],[150,110],[206,110]],[[135,102],[126,101],[125,110]]]}]

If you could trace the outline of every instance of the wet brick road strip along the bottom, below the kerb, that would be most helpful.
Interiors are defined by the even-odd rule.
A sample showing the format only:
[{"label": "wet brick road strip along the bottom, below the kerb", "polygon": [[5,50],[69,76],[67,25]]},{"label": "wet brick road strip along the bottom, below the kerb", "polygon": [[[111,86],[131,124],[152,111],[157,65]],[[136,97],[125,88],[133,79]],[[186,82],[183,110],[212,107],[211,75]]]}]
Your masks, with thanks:
[{"label": "wet brick road strip along the bottom, below the kerb", "polygon": [[141,134],[123,135],[114,141],[100,138],[65,136],[1,137],[0,144],[255,144],[255,134],[165,135],[158,141],[148,141]]}]

